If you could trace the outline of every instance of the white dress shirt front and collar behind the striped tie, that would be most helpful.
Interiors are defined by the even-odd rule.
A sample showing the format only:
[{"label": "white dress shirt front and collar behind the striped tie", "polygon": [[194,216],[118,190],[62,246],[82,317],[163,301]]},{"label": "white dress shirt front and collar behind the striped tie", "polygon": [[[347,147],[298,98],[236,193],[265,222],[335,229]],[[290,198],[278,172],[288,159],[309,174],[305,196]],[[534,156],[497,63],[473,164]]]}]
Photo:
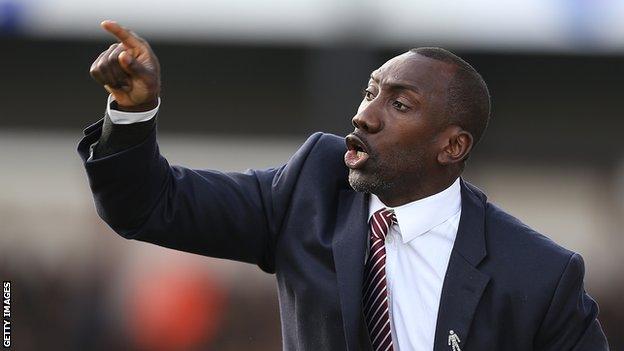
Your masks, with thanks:
[{"label": "white dress shirt front and collar behind the striped tie", "polygon": [[[369,219],[386,207],[371,195]],[[442,283],[461,216],[459,178],[447,189],[394,207],[386,236],[386,282],[394,350],[431,351]]]}]

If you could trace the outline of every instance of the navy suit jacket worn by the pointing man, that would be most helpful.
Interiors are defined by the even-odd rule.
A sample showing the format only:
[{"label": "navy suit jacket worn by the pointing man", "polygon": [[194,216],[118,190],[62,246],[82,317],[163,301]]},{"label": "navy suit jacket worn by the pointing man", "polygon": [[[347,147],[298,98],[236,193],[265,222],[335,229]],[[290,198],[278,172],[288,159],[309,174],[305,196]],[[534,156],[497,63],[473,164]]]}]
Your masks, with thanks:
[{"label": "navy suit jacket worn by the pointing man", "polygon": [[[223,173],[170,166],[155,126],[92,160],[102,120],[84,134],[97,213],[118,234],[274,273],[284,349],[371,348],[361,312],[368,196],[349,186],[343,138],[316,133],[279,168]],[[607,350],[582,258],[465,181],[461,196],[434,350],[451,350],[450,330],[463,351]]]}]

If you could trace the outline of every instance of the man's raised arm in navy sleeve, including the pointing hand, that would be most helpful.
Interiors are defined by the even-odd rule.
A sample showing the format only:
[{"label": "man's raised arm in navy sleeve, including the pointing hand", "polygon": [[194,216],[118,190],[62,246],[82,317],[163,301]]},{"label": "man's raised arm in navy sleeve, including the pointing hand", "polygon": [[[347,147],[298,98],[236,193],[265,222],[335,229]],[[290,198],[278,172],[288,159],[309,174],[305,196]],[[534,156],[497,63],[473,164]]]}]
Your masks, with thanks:
[{"label": "man's raised arm in navy sleeve, including the pointing hand", "polygon": [[[92,76],[120,109],[153,109],[159,84],[149,82],[159,82],[154,78],[158,72],[145,67],[158,67],[155,55],[149,47],[138,47],[144,42],[134,34],[111,23],[105,27],[111,26],[107,30],[120,45],[134,45],[133,55],[147,52],[147,63],[139,67],[141,55],[131,59],[120,45],[111,46],[92,65]],[[78,153],[97,213],[121,236],[274,271],[273,247],[290,194],[318,136],[279,169],[222,173],[170,166],[159,152],[155,118],[118,125],[107,115],[84,134]]]}]

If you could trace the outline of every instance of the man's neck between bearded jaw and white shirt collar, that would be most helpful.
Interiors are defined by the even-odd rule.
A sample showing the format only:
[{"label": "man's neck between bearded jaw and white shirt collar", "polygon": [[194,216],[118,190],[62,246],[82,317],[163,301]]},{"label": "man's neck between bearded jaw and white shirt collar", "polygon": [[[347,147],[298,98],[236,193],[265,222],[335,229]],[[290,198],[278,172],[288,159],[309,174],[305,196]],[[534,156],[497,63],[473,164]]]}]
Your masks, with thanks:
[{"label": "man's neck between bearded jaw and white shirt collar", "polygon": [[[398,207],[407,203],[424,199],[431,195],[435,195],[448,188],[455,182],[458,176],[452,178],[430,181],[426,184],[411,184],[407,186],[396,186],[392,189],[386,189],[376,193],[377,197],[384,205],[389,207]],[[432,178],[435,179],[435,178]]]}]

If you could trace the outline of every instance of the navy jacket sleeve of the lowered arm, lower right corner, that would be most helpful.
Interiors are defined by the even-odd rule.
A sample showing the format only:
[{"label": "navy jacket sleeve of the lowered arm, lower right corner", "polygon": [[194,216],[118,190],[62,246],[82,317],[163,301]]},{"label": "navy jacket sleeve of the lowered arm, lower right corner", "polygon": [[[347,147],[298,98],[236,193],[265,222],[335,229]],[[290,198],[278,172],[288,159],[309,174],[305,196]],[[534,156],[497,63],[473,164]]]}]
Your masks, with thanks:
[{"label": "navy jacket sleeve of the lowered arm, lower right corner", "polygon": [[609,350],[598,305],[585,292],[583,258],[572,254],[536,337],[536,350]]}]

